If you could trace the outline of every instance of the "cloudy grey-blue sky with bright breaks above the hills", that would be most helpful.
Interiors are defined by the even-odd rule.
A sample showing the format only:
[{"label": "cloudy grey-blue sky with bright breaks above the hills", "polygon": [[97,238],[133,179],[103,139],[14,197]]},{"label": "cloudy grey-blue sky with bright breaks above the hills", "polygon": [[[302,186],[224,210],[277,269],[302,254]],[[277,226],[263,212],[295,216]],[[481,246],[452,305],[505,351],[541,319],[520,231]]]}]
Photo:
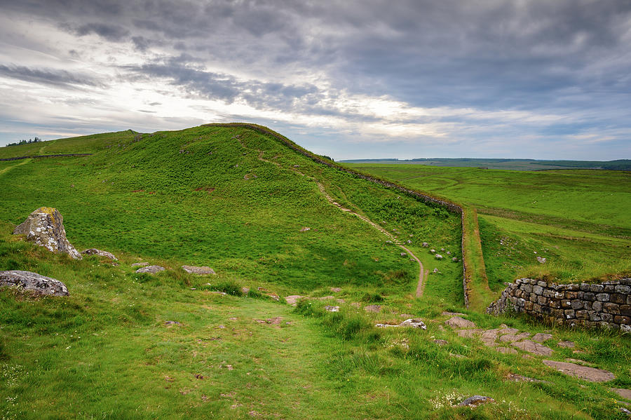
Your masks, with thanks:
[{"label": "cloudy grey-blue sky with bright breaks above the hills", "polygon": [[0,145],[246,121],[351,158],[631,158],[630,0],[0,0]]}]

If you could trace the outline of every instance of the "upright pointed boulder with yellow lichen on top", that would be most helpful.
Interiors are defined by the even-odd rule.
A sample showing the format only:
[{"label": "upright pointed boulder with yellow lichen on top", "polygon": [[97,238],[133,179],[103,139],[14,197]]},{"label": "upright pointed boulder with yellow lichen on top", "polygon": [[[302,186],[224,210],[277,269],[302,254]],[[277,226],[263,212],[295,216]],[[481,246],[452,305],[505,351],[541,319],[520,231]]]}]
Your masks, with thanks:
[{"label": "upright pointed boulder with yellow lichen on top", "polygon": [[13,234],[25,235],[27,241],[43,246],[50,252],[61,252],[74,259],[81,259],[81,254],[66,238],[64,218],[56,208],[38,208],[13,230]]}]

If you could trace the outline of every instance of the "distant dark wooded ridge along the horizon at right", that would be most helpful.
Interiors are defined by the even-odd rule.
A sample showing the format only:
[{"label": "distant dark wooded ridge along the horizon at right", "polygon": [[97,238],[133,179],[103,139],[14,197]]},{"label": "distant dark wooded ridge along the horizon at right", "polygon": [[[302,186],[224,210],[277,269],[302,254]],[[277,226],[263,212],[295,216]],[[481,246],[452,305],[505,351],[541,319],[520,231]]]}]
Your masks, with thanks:
[{"label": "distant dark wooded ridge along the horizon at right", "polygon": [[616,161],[537,161],[535,159],[415,158],[348,159],[341,163],[406,163],[430,166],[460,166],[506,170],[607,169],[631,170],[630,159]]}]

